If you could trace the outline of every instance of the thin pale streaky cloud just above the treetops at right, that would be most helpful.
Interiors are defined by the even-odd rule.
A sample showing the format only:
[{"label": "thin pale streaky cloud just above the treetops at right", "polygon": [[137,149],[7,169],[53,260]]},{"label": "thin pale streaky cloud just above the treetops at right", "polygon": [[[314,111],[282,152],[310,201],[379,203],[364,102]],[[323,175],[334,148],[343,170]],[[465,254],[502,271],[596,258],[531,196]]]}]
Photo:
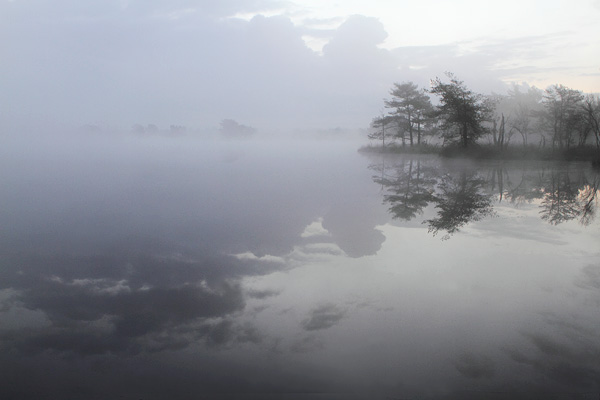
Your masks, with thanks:
[{"label": "thin pale streaky cloud just above the treetops at right", "polygon": [[[568,42],[576,44],[565,47]],[[583,81],[572,81],[572,77],[595,69],[586,59],[577,57],[578,51],[593,51],[582,50],[581,46],[584,45],[574,40],[573,32],[563,31],[513,38],[490,36],[436,46],[404,46],[393,49],[392,53],[403,80],[428,87],[429,79],[451,71],[477,92],[503,93],[509,82],[528,82],[542,88],[557,80],[567,86],[581,84]],[[559,59],[557,54],[561,55]]]}]

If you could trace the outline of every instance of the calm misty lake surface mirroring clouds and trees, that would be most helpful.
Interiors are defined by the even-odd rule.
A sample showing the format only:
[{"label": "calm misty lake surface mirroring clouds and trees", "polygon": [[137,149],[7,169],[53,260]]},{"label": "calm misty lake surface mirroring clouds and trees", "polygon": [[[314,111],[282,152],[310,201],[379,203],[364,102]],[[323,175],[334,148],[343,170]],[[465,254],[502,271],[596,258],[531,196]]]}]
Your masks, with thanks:
[{"label": "calm misty lake surface mirroring clouds and trees", "polygon": [[3,399],[597,399],[600,176],[6,139]]}]

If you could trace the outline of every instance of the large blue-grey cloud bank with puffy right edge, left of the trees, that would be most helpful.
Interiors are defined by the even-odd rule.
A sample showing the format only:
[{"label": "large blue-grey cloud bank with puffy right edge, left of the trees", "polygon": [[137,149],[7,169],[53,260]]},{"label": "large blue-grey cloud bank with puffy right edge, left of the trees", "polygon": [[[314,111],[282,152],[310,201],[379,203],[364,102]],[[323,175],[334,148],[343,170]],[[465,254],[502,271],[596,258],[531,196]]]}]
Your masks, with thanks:
[{"label": "large blue-grey cloud bank with puffy right edge, left of the trees", "polygon": [[[4,4],[0,87],[12,95],[0,105],[11,120],[126,128],[224,118],[259,131],[368,123],[395,71],[377,48],[381,23],[354,16],[333,32],[307,31],[281,15],[222,18],[279,2],[221,3]],[[306,46],[307,34],[333,36],[324,56]]]}]

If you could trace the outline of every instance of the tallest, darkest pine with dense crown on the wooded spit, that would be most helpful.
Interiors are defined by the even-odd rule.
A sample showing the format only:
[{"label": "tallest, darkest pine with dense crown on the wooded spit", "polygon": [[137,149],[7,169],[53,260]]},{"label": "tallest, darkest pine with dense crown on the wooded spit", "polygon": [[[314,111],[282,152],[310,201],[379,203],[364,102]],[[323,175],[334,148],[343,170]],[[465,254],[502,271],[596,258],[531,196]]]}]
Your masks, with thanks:
[{"label": "tallest, darkest pine with dense crown on the wooded spit", "polygon": [[466,148],[486,132],[483,124],[490,119],[491,109],[482,95],[467,89],[453,74],[446,75],[450,83],[440,78],[431,81],[430,92],[440,96],[436,115],[441,119],[445,139]]}]

